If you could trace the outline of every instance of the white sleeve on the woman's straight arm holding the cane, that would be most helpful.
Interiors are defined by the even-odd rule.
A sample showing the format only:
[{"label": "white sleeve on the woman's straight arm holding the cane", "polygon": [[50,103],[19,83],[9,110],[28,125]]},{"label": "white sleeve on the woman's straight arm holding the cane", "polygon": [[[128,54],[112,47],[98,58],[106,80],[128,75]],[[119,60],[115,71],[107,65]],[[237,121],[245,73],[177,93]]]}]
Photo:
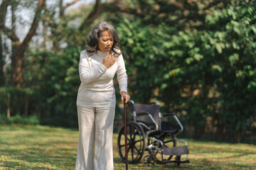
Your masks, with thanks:
[{"label": "white sleeve on the woman's straight arm holding the cane", "polygon": [[124,58],[122,55],[118,57],[117,67],[117,81],[119,84],[120,92],[124,91],[127,93],[127,70],[125,69]]}]

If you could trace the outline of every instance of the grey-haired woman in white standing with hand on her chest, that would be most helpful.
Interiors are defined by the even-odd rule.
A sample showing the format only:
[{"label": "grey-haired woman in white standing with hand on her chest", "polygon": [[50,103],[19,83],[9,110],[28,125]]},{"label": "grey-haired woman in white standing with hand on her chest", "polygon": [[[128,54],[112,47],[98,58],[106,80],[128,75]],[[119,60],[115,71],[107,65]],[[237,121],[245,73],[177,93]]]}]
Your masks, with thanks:
[{"label": "grey-haired woman in white standing with hand on her chest", "polygon": [[119,50],[119,37],[110,23],[98,23],[80,53],[78,89],[79,140],[75,169],[114,169],[112,133],[116,97],[113,78],[121,93],[127,94],[127,73]]}]

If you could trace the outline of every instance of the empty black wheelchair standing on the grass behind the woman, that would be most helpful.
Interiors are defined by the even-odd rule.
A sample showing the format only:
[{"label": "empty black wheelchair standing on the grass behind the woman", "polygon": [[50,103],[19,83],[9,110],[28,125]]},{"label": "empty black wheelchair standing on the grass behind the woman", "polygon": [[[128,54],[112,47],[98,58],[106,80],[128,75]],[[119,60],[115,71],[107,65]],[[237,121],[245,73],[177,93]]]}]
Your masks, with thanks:
[{"label": "empty black wheelchair standing on the grass behind the woman", "polygon": [[[158,102],[137,104],[129,101],[127,114],[131,112],[132,118],[127,121],[129,164],[138,164],[141,159],[147,167],[153,167],[155,163],[174,163],[176,166],[189,163],[188,145],[176,137],[183,131],[183,126],[175,113],[161,115]],[[163,121],[166,119],[168,121]],[[124,126],[119,130],[117,149],[125,162]],[[186,157],[181,159],[181,155]]]}]

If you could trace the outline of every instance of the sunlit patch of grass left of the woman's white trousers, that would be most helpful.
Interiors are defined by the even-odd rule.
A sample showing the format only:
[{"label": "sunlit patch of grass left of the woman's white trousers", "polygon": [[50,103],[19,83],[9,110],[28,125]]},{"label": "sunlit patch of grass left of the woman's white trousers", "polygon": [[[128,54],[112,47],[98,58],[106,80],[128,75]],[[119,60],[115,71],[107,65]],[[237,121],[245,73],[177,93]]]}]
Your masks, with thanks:
[{"label": "sunlit patch of grass left of the woman's white trousers", "polygon": [[0,169],[75,169],[78,134],[73,130],[42,126],[9,129],[0,137]]}]

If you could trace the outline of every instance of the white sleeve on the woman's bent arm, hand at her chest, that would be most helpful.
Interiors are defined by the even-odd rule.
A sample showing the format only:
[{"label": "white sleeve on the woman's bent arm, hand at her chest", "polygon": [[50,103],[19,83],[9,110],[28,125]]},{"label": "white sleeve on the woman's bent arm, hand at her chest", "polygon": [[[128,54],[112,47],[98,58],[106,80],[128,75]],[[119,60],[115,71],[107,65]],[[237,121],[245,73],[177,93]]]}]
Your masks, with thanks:
[{"label": "white sleeve on the woman's bent arm, hand at her chest", "polygon": [[89,59],[85,55],[85,52],[80,53],[79,62],[79,75],[80,80],[84,84],[89,84],[92,81],[98,79],[103,73],[105,73],[107,68],[104,64],[100,64],[98,67],[90,68]]}]

